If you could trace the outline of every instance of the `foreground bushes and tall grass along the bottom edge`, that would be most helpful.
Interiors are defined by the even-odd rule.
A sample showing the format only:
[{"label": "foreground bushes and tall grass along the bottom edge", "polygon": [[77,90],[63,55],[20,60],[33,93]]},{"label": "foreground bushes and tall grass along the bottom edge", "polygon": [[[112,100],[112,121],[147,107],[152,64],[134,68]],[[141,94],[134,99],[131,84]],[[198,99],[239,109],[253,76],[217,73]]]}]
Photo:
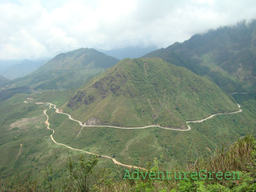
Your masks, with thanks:
[{"label": "foreground bushes and tall grass along the bottom edge", "polygon": [[[225,162],[225,164],[223,164]],[[111,171],[106,168],[95,170],[98,158],[91,156],[89,159],[83,155],[79,156],[79,162],[74,163],[71,158],[67,161],[65,168],[59,166],[62,184],[56,185],[53,175],[56,172],[50,168],[45,169],[45,178],[42,185],[38,185],[35,180],[25,178],[15,184],[1,183],[3,191],[255,191],[256,179],[256,141],[251,136],[239,139],[227,150],[216,150],[214,156],[198,158],[193,164],[187,163],[186,168],[173,167],[171,170],[159,169],[159,162],[155,161],[152,167],[148,162],[148,172],[198,172],[205,170],[207,177],[211,178],[209,171],[217,172],[236,172],[236,180],[217,179],[195,180],[188,177],[183,180],[167,180],[166,177],[160,180],[151,180],[149,175],[139,176],[139,180],[122,180],[126,171],[120,173],[120,179],[115,181],[111,178]],[[133,172],[133,170],[130,170]],[[183,173],[182,173],[183,174]],[[239,174],[239,177],[237,175]],[[136,175],[137,176],[137,175]],[[137,177],[136,177],[137,178]],[[162,178],[162,177],[161,177]],[[179,177],[178,177],[179,178]],[[203,177],[202,177],[203,178]],[[220,178],[220,177],[218,177]]]}]

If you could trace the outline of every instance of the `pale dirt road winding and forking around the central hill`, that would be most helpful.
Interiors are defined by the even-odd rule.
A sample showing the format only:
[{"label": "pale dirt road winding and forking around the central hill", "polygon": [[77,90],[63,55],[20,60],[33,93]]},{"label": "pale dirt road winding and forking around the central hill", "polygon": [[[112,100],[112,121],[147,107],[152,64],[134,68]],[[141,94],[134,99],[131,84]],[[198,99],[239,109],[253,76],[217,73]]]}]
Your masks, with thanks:
[{"label": "pale dirt road winding and forking around the central hill", "polygon": [[[27,103],[27,102],[26,102]],[[113,128],[117,128],[117,129],[146,129],[148,127],[159,127],[159,128],[162,128],[162,129],[167,129],[167,130],[174,130],[174,131],[189,131],[191,129],[191,127],[188,125],[188,128],[186,130],[179,130],[179,129],[171,129],[169,127],[162,127],[162,126],[159,126],[159,125],[147,125],[147,126],[142,126],[142,127],[119,127],[119,126],[110,126],[110,125],[86,125],[85,123],[83,124],[81,121],[79,120],[75,120],[71,117],[71,115],[69,114],[66,114],[66,113],[62,113],[59,111],[59,109],[56,107],[56,105],[52,104],[52,103],[42,103],[42,102],[37,102],[36,104],[49,104],[50,105],[50,108],[53,106],[53,108],[55,109],[55,112],[58,113],[58,114],[64,114],[64,115],[67,115],[69,117],[70,120],[73,120],[73,121],[76,121],[79,123],[79,125],[81,125],[82,127],[113,127]],[[232,113],[219,113],[219,114],[214,114],[214,115],[211,115],[210,117],[207,117],[205,119],[202,119],[202,120],[197,120],[197,121],[186,121],[186,123],[200,123],[200,122],[203,122],[207,119],[210,119],[210,118],[213,118],[214,116],[216,115],[228,115],[228,114],[235,114],[235,113],[239,113],[239,112],[242,112],[243,110],[240,109],[240,105],[237,104],[238,107],[239,107],[239,110],[238,111],[234,111]],[[53,138],[53,134],[54,134],[54,130],[51,129],[49,126],[50,126],[50,123],[48,122],[49,120],[49,116],[46,114],[46,111],[47,109],[45,109],[43,111],[44,115],[47,117],[46,121],[45,121],[45,124],[47,125],[47,129],[48,130],[51,130],[53,133],[51,134],[51,139],[52,141],[56,144],[56,145],[61,145],[61,146],[65,146],[69,149],[72,149],[72,150],[75,150],[75,151],[81,151],[81,152],[84,152],[84,153],[87,153],[87,154],[91,154],[91,155],[97,155],[97,156],[100,156],[100,157],[105,157],[105,158],[108,158],[108,159],[111,159],[116,165],[121,165],[121,166],[124,166],[124,167],[128,167],[128,168],[137,168],[137,169],[143,169],[143,170],[146,170],[145,168],[142,168],[142,167],[136,167],[136,166],[131,166],[131,165],[125,165],[125,164],[122,164],[120,162],[118,162],[115,158],[112,158],[112,157],[109,157],[109,156],[105,156],[105,155],[99,155],[99,154],[95,154],[95,153],[91,153],[91,152],[88,152],[88,151],[84,151],[82,149],[75,149],[75,148],[72,148],[72,147],[69,147],[65,144],[62,144],[62,143],[58,143],[54,140]],[[82,130],[81,130],[82,131]]]}]

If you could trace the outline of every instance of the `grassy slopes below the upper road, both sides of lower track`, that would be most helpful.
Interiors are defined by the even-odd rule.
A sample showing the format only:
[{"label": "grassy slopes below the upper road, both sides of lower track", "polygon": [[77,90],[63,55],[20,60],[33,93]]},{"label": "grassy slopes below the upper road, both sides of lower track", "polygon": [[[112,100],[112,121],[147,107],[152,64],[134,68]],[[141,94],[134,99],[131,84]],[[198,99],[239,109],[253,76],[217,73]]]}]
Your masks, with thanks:
[{"label": "grassy slopes below the upper road, both sides of lower track", "polygon": [[[50,139],[51,131],[46,130],[42,121],[35,125],[24,124],[22,127],[9,129],[10,124],[23,118],[40,117],[43,110],[49,106],[26,104],[24,99],[34,97],[36,101],[65,103],[72,91],[45,91],[43,93],[17,94],[0,104],[0,170],[1,178],[8,181],[18,181],[29,174],[30,179],[43,181],[46,168],[52,165],[57,171],[58,159],[61,169],[66,166],[68,156],[75,157],[80,152],[68,150],[55,145]],[[60,97],[61,95],[61,97]],[[47,98],[48,97],[48,98]],[[246,134],[255,134],[255,94],[233,95],[241,104],[242,113],[215,116],[202,123],[190,123],[188,132],[163,130],[152,127],[143,130],[119,130],[106,127],[84,127],[68,119],[67,116],[56,114],[54,109],[47,110],[50,127],[55,130],[54,138],[77,149],[115,157],[118,161],[130,165],[147,167],[147,162],[159,162],[160,169],[172,169],[174,166],[184,166],[187,159],[195,161],[198,156],[213,154],[216,147],[228,146],[231,142]],[[30,102],[30,101],[28,101]],[[39,118],[40,119],[40,118]],[[28,120],[29,121],[29,120]],[[78,133],[81,131],[79,136]],[[20,156],[17,154],[23,143]],[[209,151],[209,149],[211,152]],[[17,159],[16,159],[17,158]],[[96,169],[108,167],[112,170],[111,177],[119,178],[119,172],[125,168],[116,166],[110,160],[100,158]],[[60,182],[60,173],[54,175],[55,182]]]}]

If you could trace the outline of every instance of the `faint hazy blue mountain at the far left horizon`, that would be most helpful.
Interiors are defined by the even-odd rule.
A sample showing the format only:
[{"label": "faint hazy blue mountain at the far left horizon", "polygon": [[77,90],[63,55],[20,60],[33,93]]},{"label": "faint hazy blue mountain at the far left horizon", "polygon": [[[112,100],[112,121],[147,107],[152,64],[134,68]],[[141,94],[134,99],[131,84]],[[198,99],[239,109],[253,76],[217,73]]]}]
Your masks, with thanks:
[{"label": "faint hazy blue mountain at the far left horizon", "polygon": [[15,65],[8,67],[6,70],[1,72],[1,74],[9,79],[22,77],[37,70],[43,65],[44,61],[45,60],[32,61],[24,59],[22,62],[18,62]]}]

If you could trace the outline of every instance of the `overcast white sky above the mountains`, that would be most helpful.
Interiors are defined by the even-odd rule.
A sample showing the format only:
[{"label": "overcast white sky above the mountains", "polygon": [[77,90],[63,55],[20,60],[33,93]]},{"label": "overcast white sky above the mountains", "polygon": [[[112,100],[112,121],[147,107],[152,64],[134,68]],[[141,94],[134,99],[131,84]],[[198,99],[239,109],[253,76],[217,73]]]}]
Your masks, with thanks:
[{"label": "overcast white sky above the mountains", "polygon": [[0,59],[53,57],[81,47],[167,47],[256,18],[256,1],[0,1]]}]

